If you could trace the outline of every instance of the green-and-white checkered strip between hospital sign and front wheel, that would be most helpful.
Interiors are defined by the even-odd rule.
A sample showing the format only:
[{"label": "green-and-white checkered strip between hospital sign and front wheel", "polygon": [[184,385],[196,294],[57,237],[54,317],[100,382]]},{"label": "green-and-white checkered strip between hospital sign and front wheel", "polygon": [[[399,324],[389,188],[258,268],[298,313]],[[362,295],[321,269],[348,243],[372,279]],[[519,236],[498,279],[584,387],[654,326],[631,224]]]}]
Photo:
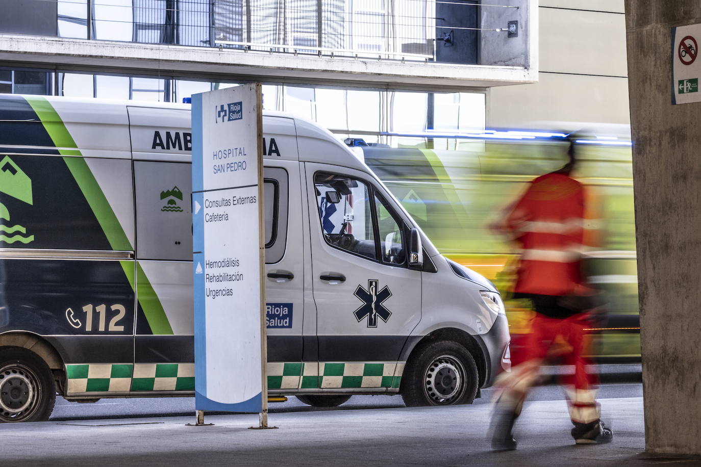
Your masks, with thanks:
[{"label": "green-and-white checkered strip between hospital sign and front wheel", "polygon": [[268,363],[268,389],[398,388],[404,362]]}]

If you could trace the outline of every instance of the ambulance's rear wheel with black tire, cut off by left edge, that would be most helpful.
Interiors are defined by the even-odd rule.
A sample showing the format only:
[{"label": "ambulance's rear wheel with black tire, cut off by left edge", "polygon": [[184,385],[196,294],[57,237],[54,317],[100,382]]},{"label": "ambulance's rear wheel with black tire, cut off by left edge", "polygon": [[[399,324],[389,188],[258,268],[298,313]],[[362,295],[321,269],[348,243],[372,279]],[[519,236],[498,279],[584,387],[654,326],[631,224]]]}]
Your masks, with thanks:
[{"label": "ambulance's rear wheel with black tire, cut off by left edge", "polygon": [[46,362],[21,347],[0,349],[0,422],[46,421],[56,389]]}]

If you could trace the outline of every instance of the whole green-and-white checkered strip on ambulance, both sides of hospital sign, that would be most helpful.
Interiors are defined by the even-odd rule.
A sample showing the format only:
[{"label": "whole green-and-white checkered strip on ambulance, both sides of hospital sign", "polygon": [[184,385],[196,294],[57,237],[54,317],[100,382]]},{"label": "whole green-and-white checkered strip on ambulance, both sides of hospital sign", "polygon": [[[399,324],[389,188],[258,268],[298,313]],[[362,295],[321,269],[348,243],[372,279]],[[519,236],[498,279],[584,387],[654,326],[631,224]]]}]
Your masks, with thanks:
[{"label": "whole green-and-white checkered strip on ambulance, both sides of hospital sign", "polygon": [[[405,362],[268,363],[268,389],[393,388]],[[83,363],[66,365],[67,393],[126,394],[194,391],[194,363]]]}]

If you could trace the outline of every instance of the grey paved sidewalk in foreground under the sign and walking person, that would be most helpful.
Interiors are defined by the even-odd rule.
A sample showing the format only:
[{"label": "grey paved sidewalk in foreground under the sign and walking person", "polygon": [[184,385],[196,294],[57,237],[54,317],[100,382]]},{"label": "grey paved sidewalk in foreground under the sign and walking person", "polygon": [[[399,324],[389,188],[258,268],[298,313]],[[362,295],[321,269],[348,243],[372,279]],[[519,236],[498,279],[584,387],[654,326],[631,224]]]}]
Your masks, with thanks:
[{"label": "grey paved sidewalk in foreground under the sign and walking person", "polygon": [[527,403],[517,425],[519,449],[491,452],[491,407],[390,407],[271,414],[271,430],[250,430],[257,416],[207,416],[215,426],[186,426],[191,417],[47,421],[0,426],[4,465],[259,466],[631,466],[699,465],[697,459],[642,454],[642,398],[601,400],[615,439],[576,446],[563,400]]}]

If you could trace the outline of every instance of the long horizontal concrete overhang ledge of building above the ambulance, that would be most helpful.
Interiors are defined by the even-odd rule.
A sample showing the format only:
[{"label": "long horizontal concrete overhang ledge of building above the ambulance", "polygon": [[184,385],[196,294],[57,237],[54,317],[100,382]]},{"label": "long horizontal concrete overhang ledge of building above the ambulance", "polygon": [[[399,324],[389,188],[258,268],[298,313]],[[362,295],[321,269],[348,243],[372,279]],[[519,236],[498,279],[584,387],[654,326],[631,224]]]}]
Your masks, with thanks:
[{"label": "long horizontal concrete overhang ledge of building above the ambulance", "polygon": [[[3,65],[365,88],[459,90],[534,83],[537,67],[404,62],[0,34]],[[537,63],[537,62],[536,62]]]}]

